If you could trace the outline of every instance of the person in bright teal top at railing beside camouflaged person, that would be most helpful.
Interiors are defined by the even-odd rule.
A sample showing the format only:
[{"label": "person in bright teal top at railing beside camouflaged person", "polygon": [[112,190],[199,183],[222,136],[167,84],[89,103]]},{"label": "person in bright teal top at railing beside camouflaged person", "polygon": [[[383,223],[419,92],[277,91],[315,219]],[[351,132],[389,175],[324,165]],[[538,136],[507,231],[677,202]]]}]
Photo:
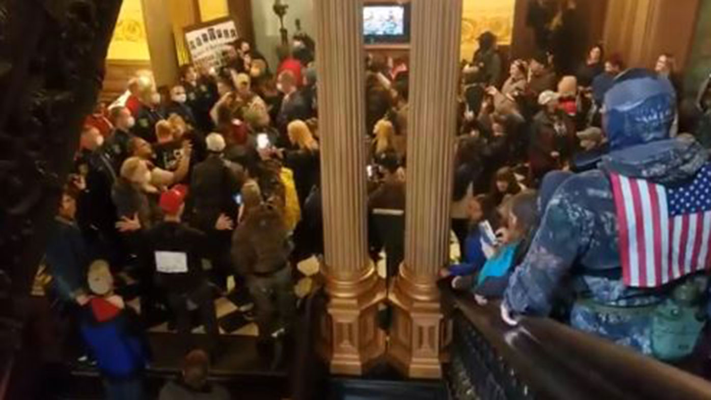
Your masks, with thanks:
[{"label": "person in bright teal top at railing beside camouflaged person", "polygon": [[508,278],[528,251],[538,228],[538,196],[535,191],[515,194],[503,204],[502,211],[505,228],[498,231],[496,251],[481,267],[472,288],[480,305],[503,297]]}]

